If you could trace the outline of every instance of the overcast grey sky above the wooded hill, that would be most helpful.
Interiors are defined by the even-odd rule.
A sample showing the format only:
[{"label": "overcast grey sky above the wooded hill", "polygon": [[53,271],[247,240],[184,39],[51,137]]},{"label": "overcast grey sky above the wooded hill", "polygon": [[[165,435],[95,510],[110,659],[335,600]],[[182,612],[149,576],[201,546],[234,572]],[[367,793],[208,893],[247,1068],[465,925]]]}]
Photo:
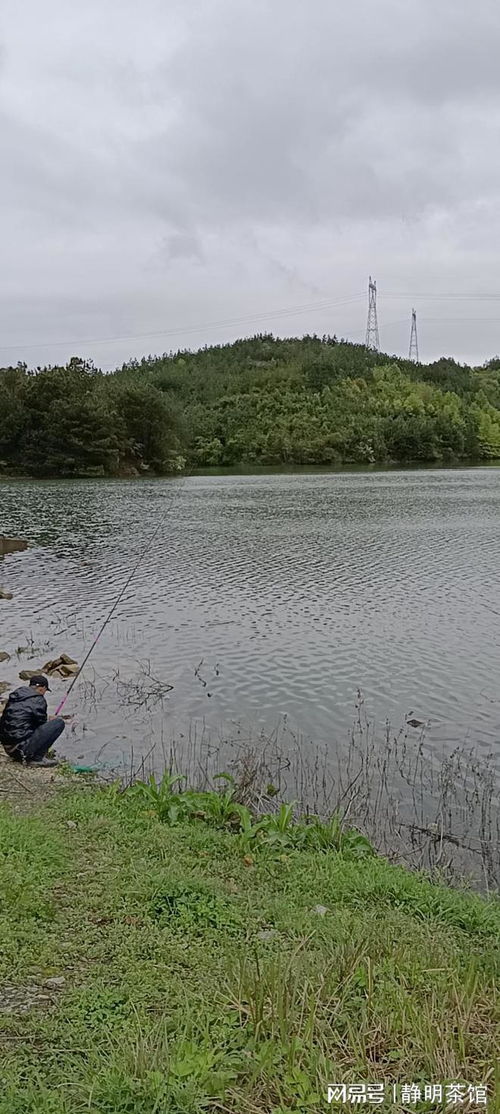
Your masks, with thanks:
[{"label": "overcast grey sky above the wooded hill", "polygon": [[361,341],[369,274],[499,353],[499,0],[2,0],[0,364]]}]

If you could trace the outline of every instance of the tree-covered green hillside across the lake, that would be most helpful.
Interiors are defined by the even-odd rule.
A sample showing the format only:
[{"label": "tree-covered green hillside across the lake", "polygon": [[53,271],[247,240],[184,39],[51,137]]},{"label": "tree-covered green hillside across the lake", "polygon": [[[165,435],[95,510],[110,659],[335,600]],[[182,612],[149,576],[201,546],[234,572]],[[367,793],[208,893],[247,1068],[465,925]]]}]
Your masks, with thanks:
[{"label": "tree-covered green hillside across the lake", "polygon": [[18,364],[0,398],[3,473],[500,459],[500,360],[412,364],[335,338],[259,335],[111,374]]}]

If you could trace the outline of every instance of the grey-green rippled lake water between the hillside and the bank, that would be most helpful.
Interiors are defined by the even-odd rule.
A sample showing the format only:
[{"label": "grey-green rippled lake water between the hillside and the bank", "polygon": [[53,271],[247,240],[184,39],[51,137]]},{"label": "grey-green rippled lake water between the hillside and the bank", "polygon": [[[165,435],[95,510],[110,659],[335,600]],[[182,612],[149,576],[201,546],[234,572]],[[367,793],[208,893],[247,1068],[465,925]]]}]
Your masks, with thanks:
[{"label": "grey-green rippled lake water between the hillside and the bank", "polygon": [[[165,514],[70,697],[72,756],[144,752],[193,721],[272,729],[284,714],[333,746],[357,688],[381,723],[429,720],[441,750],[498,745],[493,468],[3,481],[0,499],[0,532],[31,543],[1,563],[14,599],[0,602],[0,649],[37,651],[3,680],[61,651],[81,662]],[[130,685],[144,696],[149,672],[174,691],[135,709]]]}]

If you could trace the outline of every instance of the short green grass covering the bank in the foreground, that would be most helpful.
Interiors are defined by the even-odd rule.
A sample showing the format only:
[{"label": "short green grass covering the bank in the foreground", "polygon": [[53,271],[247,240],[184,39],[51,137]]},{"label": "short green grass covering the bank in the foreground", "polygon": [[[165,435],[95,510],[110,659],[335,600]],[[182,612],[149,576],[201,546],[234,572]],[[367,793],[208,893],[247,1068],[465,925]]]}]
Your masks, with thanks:
[{"label": "short green grass covering the bank in the foreground", "polygon": [[[497,900],[171,820],[114,789],[0,811],[0,1114],[315,1114],[383,1081],[496,1108]],[[2,1013],[7,985],[49,1000]]]}]

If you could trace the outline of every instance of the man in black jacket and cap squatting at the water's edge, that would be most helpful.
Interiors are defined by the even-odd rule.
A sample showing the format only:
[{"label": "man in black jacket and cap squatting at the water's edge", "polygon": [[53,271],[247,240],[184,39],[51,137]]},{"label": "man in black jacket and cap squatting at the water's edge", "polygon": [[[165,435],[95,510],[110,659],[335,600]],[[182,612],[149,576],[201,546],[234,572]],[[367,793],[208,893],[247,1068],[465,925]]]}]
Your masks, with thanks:
[{"label": "man in black jacket and cap squatting at the water's edge", "polygon": [[47,751],[65,730],[65,721],[47,716],[46,692],[49,682],[41,673],[31,677],[29,685],[10,694],[0,719],[0,743],[14,762],[29,765],[53,766],[57,759],[48,759]]}]

